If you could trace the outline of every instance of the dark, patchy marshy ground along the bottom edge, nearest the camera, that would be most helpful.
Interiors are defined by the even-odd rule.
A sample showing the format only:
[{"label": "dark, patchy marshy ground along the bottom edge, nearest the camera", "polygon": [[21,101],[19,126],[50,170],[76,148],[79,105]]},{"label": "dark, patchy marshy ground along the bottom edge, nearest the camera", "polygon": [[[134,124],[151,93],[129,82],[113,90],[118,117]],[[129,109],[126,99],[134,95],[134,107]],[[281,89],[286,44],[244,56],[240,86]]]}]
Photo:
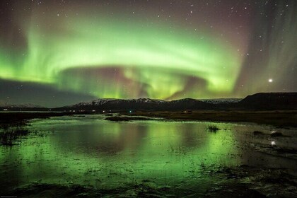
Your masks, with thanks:
[{"label": "dark, patchy marshy ground along the bottom edge, nearest the camera", "polygon": [[[190,182],[180,185],[156,185],[153,180],[143,180],[134,185],[115,189],[95,189],[81,185],[32,184],[8,192],[17,197],[296,197],[296,175],[287,170],[259,169],[240,165],[235,168],[211,168],[199,177],[214,177],[211,187]],[[223,182],[222,182],[223,181]],[[209,184],[208,184],[209,185]]]}]

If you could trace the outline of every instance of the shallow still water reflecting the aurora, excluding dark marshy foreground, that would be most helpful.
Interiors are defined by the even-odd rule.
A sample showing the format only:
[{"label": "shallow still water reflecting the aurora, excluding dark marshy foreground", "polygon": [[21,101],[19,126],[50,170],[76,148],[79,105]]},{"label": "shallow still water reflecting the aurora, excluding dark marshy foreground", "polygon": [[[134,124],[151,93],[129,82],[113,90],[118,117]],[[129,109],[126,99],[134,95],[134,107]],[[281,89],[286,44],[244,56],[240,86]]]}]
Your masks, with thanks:
[{"label": "shallow still water reflecting the aurora, excluding dark marshy foreground", "polygon": [[[117,189],[141,182],[205,190],[220,167],[253,165],[294,168],[296,159],[270,152],[273,146],[296,146],[294,129],[244,123],[110,122],[103,115],[33,120],[30,136],[19,146],[1,146],[1,187],[42,183]],[[207,127],[215,124],[218,132]],[[254,131],[266,136],[255,136]],[[281,132],[281,139],[269,136]],[[281,161],[279,160],[281,158]]]}]

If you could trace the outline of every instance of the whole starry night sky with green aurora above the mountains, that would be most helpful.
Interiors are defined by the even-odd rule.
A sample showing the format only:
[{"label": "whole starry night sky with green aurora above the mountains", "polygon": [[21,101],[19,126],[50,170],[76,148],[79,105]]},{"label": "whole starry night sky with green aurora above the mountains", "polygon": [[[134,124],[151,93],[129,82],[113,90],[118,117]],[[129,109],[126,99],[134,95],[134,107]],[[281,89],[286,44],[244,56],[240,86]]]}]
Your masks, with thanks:
[{"label": "whole starry night sky with green aurora above the mountains", "polygon": [[0,2],[0,103],[297,91],[297,1]]}]

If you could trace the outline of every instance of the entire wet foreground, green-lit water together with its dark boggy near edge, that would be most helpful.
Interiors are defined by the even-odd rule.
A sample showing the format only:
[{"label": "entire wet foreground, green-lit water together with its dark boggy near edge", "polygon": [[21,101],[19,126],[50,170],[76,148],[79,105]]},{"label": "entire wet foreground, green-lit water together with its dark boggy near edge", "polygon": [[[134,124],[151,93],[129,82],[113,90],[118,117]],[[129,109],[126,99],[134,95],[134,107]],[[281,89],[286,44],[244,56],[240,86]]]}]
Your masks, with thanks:
[{"label": "entire wet foreground, green-lit water together with its dark boggy near edge", "polygon": [[296,128],[104,119],[33,120],[39,134],[0,147],[0,195],[297,197]]}]

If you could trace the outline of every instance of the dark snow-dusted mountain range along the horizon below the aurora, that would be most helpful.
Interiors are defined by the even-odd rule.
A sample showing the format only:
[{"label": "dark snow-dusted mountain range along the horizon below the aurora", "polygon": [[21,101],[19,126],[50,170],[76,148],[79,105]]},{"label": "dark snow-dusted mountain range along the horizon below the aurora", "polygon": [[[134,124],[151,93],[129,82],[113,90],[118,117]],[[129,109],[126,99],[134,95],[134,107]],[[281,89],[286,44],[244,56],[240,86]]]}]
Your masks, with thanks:
[{"label": "dark snow-dusted mountain range along the horizon below the aurora", "polygon": [[[50,110],[31,103],[9,105],[0,103],[0,110]],[[52,108],[56,111],[191,111],[191,110],[297,110],[297,93],[256,93],[246,98],[216,98],[196,100],[98,99],[75,105]]]}]

